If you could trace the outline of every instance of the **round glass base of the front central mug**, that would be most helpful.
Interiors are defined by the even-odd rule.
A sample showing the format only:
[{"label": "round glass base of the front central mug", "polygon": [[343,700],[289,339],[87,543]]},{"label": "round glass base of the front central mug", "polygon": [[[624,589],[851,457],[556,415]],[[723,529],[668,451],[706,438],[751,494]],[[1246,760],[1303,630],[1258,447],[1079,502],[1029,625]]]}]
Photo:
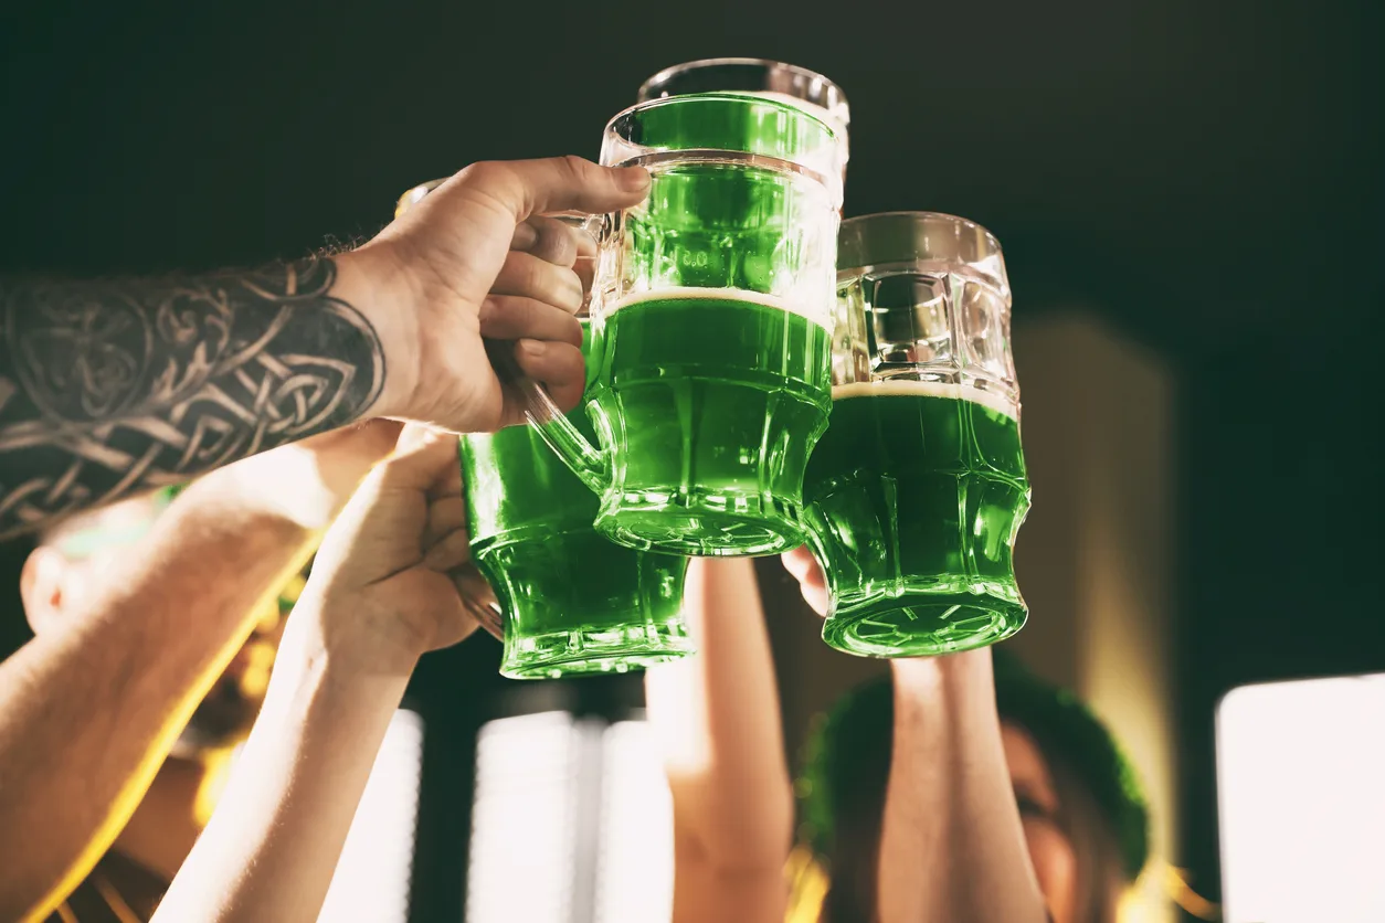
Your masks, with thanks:
[{"label": "round glass base of the front central mug", "polygon": [[668,493],[627,493],[593,523],[602,536],[643,551],[692,558],[777,555],[802,545],[801,508],[760,497],[704,495],[670,502]]}]

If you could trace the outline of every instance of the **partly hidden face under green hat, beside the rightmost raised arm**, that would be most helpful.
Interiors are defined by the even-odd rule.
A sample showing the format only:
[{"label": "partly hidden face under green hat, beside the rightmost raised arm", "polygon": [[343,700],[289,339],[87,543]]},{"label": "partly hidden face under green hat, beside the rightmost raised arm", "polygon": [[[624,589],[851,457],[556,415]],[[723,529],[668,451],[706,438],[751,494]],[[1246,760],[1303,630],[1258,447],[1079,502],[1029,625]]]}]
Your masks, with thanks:
[{"label": "partly hidden face under green hat, beside the rightmost raised arm", "polygon": [[1078,904],[1078,855],[1058,825],[1058,793],[1048,764],[1022,728],[1003,724],[1000,738],[1010,783],[1019,803],[1029,858],[1054,923],[1073,923]]}]

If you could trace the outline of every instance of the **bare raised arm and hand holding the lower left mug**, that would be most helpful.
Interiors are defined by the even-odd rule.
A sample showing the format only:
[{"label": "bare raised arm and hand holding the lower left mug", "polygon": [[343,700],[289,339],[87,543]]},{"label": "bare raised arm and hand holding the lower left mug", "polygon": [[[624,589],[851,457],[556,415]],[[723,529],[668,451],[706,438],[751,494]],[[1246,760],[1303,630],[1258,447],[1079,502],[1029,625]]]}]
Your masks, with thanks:
[{"label": "bare raised arm and hand holding the lower left mug", "polygon": [[409,674],[475,630],[456,439],[410,430],[328,533],[255,729],[157,923],[312,923]]}]

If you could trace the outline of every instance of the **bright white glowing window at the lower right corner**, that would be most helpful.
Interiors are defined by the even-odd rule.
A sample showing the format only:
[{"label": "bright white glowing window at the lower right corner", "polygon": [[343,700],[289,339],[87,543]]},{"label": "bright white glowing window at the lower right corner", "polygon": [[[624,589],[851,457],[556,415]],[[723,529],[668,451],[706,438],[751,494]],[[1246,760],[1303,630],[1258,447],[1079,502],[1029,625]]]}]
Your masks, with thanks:
[{"label": "bright white glowing window at the lower right corner", "polygon": [[1385,920],[1385,674],[1231,691],[1217,800],[1227,923]]}]

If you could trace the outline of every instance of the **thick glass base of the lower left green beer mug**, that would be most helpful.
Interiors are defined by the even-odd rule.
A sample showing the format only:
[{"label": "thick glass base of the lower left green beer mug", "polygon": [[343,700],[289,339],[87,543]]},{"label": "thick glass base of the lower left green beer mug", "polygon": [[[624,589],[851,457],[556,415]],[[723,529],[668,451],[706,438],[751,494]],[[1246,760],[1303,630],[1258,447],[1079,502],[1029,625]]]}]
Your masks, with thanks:
[{"label": "thick glass base of the lower left green beer mug", "polygon": [[681,619],[643,625],[569,628],[506,639],[500,674],[511,679],[629,673],[697,653]]}]

